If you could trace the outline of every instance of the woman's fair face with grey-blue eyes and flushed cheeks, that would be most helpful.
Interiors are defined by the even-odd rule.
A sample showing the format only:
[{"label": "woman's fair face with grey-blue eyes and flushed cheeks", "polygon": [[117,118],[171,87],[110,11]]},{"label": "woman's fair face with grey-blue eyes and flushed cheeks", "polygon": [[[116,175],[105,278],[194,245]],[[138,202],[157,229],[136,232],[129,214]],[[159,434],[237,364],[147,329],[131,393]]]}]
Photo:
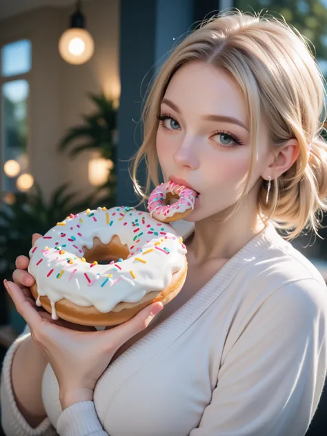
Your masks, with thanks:
[{"label": "woman's fair face with grey-blue eyes and flushed cheeks", "polygon": [[[250,168],[248,129],[246,101],[226,72],[203,62],[177,70],[161,102],[157,154],[166,181],[184,179],[199,192],[189,221],[216,215],[239,199]],[[261,123],[251,186],[266,167],[268,152]]]}]

